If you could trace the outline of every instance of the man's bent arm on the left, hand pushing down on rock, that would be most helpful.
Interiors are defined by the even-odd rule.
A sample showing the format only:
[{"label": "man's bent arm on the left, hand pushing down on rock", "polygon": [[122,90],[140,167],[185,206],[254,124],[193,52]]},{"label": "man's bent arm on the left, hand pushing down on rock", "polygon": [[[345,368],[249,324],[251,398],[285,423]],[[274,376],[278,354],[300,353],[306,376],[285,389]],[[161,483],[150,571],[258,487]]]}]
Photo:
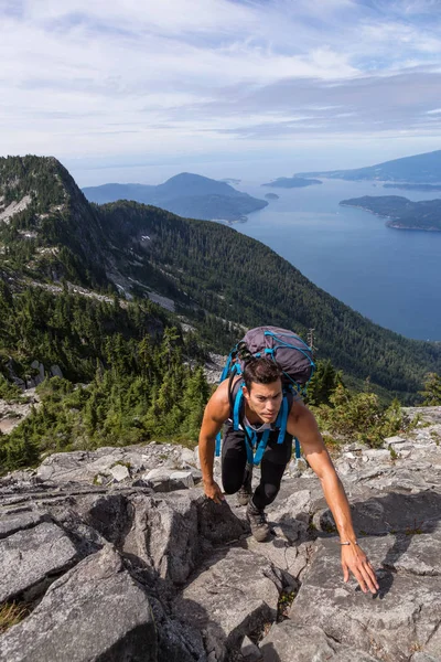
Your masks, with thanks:
[{"label": "man's bent arm on the left, hand pushing down on rock", "polygon": [[225,499],[219,485],[213,478],[216,435],[220,431],[220,428],[224,421],[228,418],[228,415],[229,402],[227,380],[217,387],[215,393],[209,398],[207,406],[205,407],[198,440],[204,492],[208,499],[213,499],[213,501],[216,503],[220,503]]}]

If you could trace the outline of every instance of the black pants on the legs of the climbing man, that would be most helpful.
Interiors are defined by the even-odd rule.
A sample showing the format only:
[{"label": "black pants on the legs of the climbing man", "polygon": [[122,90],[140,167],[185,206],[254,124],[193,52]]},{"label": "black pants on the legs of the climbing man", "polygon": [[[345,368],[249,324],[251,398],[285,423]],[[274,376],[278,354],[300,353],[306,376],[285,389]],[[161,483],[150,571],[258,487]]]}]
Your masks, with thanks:
[{"label": "black pants on the legs of the climbing man", "polygon": [[[278,444],[279,433],[271,433],[261,459],[261,478],[252,502],[259,510],[276,499],[283,471],[291,458],[292,436],[286,435],[283,444]],[[247,468],[246,438],[243,430],[234,430],[233,425],[224,428],[222,444],[222,482],[226,494],[234,494],[244,484]]]}]

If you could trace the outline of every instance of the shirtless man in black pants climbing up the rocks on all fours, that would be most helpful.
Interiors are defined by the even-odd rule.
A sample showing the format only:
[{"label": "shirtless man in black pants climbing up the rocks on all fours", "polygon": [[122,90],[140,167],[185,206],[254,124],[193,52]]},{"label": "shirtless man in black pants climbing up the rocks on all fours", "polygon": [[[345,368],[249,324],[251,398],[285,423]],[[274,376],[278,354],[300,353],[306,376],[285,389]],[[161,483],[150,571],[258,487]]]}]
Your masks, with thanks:
[{"label": "shirtless man in black pants climbing up the rocks on all fours", "polygon": [[[265,508],[276,499],[284,469],[291,458],[292,438],[301,444],[305,459],[319,477],[326,503],[334,516],[342,545],[343,577],[347,581],[349,570],[362,590],[376,592],[378,589],[375,572],[354,533],[349,504],[343,485],[320,435],[315,418],[299,396],[291,396],[283,442],[278,444],[279,430],[273,429],[282,406],[283,392],[281,371],[270,359],[254,359],[245,365],[243,377],[229,384],[225,380],[211,397],[202,421],[198,449],[204,491],[208,499],[222,503],[225,499],[213,478],[215,438],[225,423],[222,449],[222,482],[227,494],[238,492],[239,502],[247,504],[247,520],[257,541],[263,542],[270,535]],[[241,386],[241,382],[244,385]],[[233,393],[229,393],[229,388]],[[232,403],[238,388],[243,388],[244,406],[240,413],[241,429],[233,426]],[[251,492],[251,471],[247,467],[247,447],[252,429],[257,439],[269,429],[269,437],[261,459],[261,479],[256,491]],[[248,450],[249,457],[249,450]]]}]

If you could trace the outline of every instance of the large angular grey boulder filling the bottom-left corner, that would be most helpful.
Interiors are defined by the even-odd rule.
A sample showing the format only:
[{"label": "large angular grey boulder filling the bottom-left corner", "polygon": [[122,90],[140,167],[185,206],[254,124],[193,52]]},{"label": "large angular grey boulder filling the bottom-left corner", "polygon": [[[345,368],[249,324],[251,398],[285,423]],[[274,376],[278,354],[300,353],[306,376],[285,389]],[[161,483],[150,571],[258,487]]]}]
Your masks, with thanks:
[{"label": "large angular grey boulder filling the bottom-left corner", "polygon": [[0,638],[8,662],[157,662],[148,596],[111,548],[55,581],[36,609]]}]

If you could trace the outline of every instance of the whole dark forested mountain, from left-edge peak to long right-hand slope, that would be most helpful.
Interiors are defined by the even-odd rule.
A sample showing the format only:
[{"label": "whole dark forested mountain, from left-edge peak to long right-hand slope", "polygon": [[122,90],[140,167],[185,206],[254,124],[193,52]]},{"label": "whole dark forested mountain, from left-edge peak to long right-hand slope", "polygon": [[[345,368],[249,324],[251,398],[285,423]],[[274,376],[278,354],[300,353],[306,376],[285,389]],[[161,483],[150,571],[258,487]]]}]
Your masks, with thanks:
[{"label": "whole dark forested mountain, from left-edge peak to long right-hand slope", "polygon": [[[57,363],[58,352],[66,370],[75,372],[80,355],[85,376],[94,375],[95,356],[105,361],[112,346],[114,340],[109,345],[104,338],[106,329],[116,330],[125,343],[154,324],[146,321],[157,310],[143,303],[151,298],[172,310],[162,325],[193,327],[215,351],[226,351],[244,328],[277,324],[303,337],[313,328],[320,357],[405,401],[415,397],[427,372],[441,372],[440,343],[381,329],[232,227],[137,202],[92,205],[51,159],[3,159],[0,182],[2,213],[10,210],[0,222],[0,286],[6,288],[0,310],[8,311],[0,324],[0,359],[13,354],[23,365],[43,357]],[[28,206],[17,211],[19,204]],[[63,280],[73,284],[71,292],[89,297],[87,309],[60,291]],[[115,318],[117,288],[126,301]],[[72,345],[71,334],[76,339]],[[125,350],[122,365],[130,363],[132,351]]]}]

